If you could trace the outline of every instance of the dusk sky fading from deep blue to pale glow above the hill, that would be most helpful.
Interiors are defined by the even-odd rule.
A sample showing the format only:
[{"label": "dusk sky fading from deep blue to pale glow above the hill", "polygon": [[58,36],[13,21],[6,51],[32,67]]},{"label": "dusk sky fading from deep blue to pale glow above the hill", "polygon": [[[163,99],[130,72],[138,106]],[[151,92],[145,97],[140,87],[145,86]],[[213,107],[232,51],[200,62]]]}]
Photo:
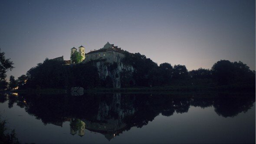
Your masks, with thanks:
[{"label": "dusk sky fading from deep blue to pale glow above the hill", "polygon": [[255,0],[1,0],[0,48],[19,77],[70,49],[109,42],[157,62],[210,69],[220,59],[255,70]]}]

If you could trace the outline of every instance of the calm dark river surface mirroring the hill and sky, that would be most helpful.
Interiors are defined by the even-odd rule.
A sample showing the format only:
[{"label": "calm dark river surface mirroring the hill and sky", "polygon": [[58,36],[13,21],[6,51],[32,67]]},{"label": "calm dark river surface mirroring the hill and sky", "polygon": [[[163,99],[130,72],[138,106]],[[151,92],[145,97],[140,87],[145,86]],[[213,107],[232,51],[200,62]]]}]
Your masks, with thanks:
[{"label": "calm dark river surface mirroring the hill and sky", "polygon": [[1,94],[21,143],[255,143],[255,94]]}]

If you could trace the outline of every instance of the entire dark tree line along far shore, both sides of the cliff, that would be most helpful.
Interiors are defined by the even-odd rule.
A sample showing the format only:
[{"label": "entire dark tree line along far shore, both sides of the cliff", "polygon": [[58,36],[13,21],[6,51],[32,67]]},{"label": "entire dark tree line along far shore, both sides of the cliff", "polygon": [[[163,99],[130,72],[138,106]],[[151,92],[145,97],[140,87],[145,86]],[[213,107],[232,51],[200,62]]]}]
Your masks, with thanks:
[{"label": "entire dark tree line along far shore, both sides of the cliff", "polygon": [[[253,84],[255,85],[255,71],[243,62],[230,62],[220,60],[213,64],[211,69],[197,69],[188,71],[185,65],[170,63],[157,63],[140,53],[124,52],[122,59],[124,65],[132,65],[134,72],[121,72],[121,87],[155,87],[155,86],[181,86],[181,85],[231,85]],[[18,79],[10,76],[9,84],[6,82],[7,70],[13,69],[13,62],[5,59],[4,52],[0,52],[0,90],[19,88],[109,88],[112,79],[100,79],[94,62],[65,65],[64,62],[45,59],[21,75]],[[114,63],[116,64],[116,63]],[[108,69],[117,69],[107,65]],[[8,84],[8,85],[7,85]]]}]

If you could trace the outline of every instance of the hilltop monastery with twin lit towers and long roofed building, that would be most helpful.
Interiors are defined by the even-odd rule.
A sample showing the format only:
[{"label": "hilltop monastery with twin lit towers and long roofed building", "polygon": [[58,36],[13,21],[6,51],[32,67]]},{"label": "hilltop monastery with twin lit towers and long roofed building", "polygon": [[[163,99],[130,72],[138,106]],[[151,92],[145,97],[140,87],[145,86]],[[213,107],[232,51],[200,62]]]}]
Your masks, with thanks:
[{"label": "hilltop monastery with twin lit towers and long roofed building", "polygon": [[[78,51],[77,51],[78,50]],[[82,56],[82,62],[89,62],[92,60],[98,60],[98,59],[105,59],[106,62],[120,62],[122,58],[125,57],[123,54],[124,50],[121,48],[118,48],[118,46],[114,46],[114,44],[106,43],[105,46],[101,49],[94,49],[93,51],[91,50],[88,53],[85,53],[85,47],[79,46],[78,49],[73,47],[71,49],[71,54],[72,56],[75,52],[78,52],[79,55]],[[72,60],[64,60],[63,56],[55,58],[54,60],[58,61],[64,61],[66,64],[72,64]]]}]

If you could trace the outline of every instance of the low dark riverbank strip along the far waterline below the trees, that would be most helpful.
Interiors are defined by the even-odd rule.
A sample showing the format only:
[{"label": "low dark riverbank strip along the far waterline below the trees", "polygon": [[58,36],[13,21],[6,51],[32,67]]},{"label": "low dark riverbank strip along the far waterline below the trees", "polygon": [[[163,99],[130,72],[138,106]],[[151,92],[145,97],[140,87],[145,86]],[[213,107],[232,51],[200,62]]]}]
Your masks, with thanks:
[{"label": "low dark riverbank strip along the far waterline below the trees", "polygon": [[[190,92],[255,92],[255,84],[233,85],[188,85],[188,86],[165,86],[165,87],[141,87],[141,88],[92,88],[85,89],[86,93],[190,93]],[[66,89],[23,89],[11,92],[17,93],[40,93],[40,94],[66,94]]]}]

